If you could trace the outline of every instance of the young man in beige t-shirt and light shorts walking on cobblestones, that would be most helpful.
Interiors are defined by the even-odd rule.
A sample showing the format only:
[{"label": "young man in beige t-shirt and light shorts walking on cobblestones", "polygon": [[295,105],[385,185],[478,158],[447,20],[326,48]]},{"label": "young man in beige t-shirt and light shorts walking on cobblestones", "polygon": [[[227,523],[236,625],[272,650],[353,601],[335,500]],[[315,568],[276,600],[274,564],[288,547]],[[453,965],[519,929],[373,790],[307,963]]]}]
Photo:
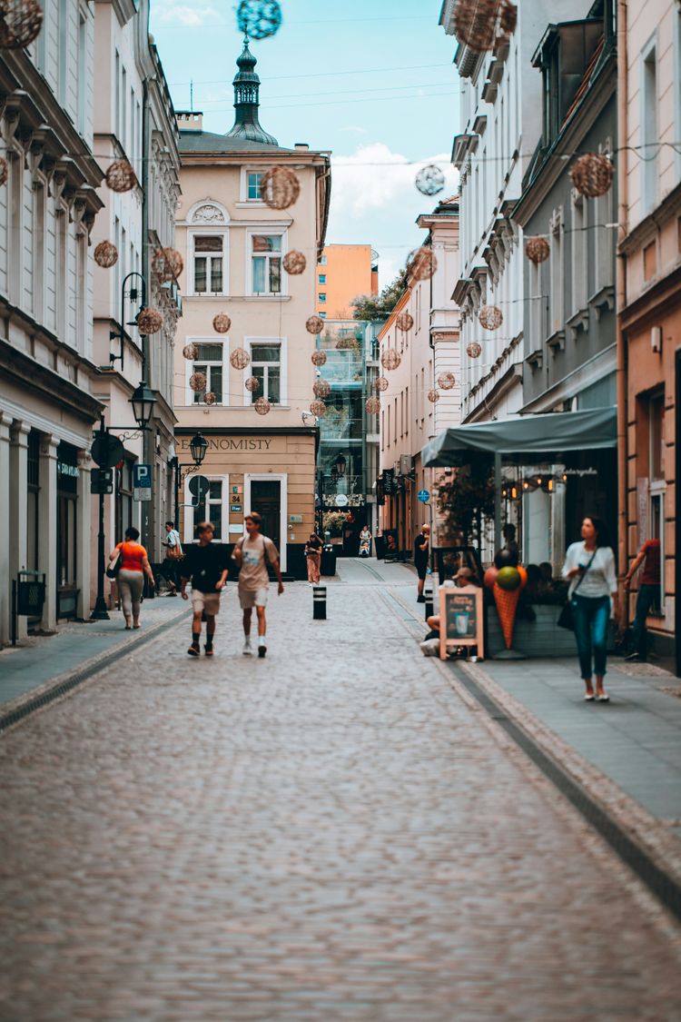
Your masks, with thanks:
[{"label": "young man in beige t-shirt and light shorts walking on cobblestones", "polygon": [[253,650],[250,644],[250,622],[255,607],[257,614],[257,655],[262,657],[267,652],[267,621],[264,609],[267,605],[267,590],[270,575],[267,565],[277,575],[281,596],[284,592],[282,570],[279,565],[279,552],[272,540],[262,536],[260,526],[262,518],[257,511],[246,515],[246,536],[239,540],[234,548],[234,559],[241,568],[239,572],[239,602],[244,612],[244,656],[251,656]]}]

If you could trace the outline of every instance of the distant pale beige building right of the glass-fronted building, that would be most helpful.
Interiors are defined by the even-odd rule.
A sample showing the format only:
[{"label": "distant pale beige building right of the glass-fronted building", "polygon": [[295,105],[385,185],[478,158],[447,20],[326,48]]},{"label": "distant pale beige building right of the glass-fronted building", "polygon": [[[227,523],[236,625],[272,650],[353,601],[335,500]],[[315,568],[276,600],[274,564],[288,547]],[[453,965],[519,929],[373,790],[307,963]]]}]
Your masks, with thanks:
[{"label": "distant pale beige building right of the glass-fronted building", "polygon": [[[424,468],[421,451],[437,433],[461,421],[459,311],[451,297],[459,273],[458,198],[438,203],[417,223],[429,232],[424,244],[433,249],[436,271],[432,279],[409,279],[378,335],[381,357],[395,351],[400,359],[397,369],[380,370],[388,380],[380,394],[381,472],[384,481],[386,471],[394,478],[393,493],[385,495],[381,527],[384,533],[396,530],[400,550],[410,549],[431,515],[434,544],[441,545],[435,499],[441,470]],[[401,314],[414,321],[410,329],[400,328]],[[438,383],[447,373],[455,381],[448,389]],[[429,394],[438,400],[430,401]],[[418,500],[421,490],[432,495],[429,507]]]}]

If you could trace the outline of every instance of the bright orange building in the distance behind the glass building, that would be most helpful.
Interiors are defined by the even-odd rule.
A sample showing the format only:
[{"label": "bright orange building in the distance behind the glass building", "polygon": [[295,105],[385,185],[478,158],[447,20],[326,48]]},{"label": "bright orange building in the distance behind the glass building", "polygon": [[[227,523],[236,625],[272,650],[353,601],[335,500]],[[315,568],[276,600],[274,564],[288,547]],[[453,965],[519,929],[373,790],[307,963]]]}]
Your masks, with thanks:
[{"label": "bright orange building in the distance behind the glass building", "polygon": [[352,298],[378,294],[377,253],[371,245],[327,245],[317,267],[317,313],[352,319]]}]

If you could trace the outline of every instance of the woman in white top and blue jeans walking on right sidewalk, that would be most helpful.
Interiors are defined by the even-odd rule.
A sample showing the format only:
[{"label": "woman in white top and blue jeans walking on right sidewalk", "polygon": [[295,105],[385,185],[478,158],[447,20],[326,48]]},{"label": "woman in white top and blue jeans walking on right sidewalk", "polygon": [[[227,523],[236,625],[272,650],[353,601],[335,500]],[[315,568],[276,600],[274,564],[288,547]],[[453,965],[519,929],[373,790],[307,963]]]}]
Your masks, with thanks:
[{"label": "woman in white top and blue jeans walking on right sidewalk", "polygon": [[[603,689],[611,600],[615,619],[620,617],[620,600],[615,574],[615,554],[607,544],[605,527],[587,515],[582,521],[582,540],[568,547],[563,577],[570,582],[570,601],[575,638],[587,702],[609,702]],[[592,678],[595,675],[596,688]]]}]

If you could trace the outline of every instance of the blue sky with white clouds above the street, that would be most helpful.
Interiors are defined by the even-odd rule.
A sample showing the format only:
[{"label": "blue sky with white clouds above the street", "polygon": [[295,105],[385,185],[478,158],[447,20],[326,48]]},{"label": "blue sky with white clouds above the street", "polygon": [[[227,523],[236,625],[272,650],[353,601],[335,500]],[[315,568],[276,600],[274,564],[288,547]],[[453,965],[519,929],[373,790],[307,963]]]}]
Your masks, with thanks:
[{"label": "blue sky with white clouds above the street", "polygon": [[[425,237],[415,221],[456,190],[449,160],[458,125],[455,42],[438,25],[441,0],[280,0],[277,34],[250,48],[260,77],[260,124],[280,145],[332,152],[328,244],[371,244],[389,283]],[[234,123],[243,37],[236,0],[151,0],[151,33],[176,109],[202,110],[207,131]],[[446,175],[435,198],[419,166]]]}]

